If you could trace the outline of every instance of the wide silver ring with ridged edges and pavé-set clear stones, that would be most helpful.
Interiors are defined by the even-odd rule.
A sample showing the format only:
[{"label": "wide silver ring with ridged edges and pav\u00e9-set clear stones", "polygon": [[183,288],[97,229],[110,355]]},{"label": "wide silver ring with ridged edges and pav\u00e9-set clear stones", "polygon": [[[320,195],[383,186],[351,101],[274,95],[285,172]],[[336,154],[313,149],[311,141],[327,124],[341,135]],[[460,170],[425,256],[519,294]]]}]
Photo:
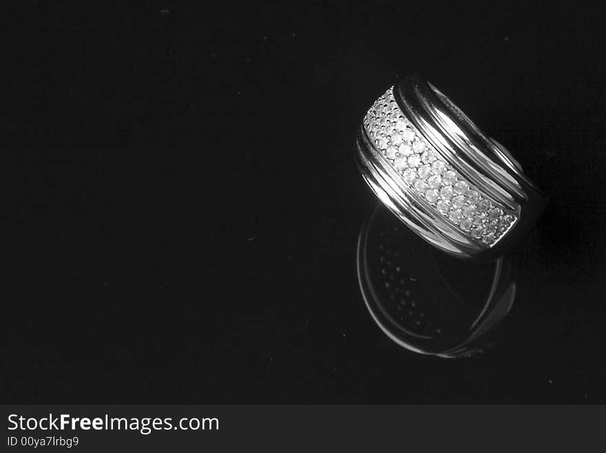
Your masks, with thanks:
[{"label": "wide silver ring with ridged edges and pav\u00e9-set clear stones", "polygon": [[375,101],[356,148],[377,197],[448,254],[501,256],[543,211],[543,195],[510,152],[418,76]]}]

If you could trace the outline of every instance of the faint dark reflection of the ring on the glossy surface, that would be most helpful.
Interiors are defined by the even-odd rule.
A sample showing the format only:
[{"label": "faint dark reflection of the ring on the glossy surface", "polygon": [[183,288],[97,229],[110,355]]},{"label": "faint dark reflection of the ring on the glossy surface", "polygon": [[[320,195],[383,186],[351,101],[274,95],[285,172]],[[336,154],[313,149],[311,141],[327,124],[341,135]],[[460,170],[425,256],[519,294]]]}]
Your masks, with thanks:
[{"label": "faint dark reflection of the ring on the glossy surface", "polygon": [[477,264],[443,254],[382,205],[362,225],[357,272],[375,323],[419,354],[455,358],[494,347],[516,295],[503,258]]}]

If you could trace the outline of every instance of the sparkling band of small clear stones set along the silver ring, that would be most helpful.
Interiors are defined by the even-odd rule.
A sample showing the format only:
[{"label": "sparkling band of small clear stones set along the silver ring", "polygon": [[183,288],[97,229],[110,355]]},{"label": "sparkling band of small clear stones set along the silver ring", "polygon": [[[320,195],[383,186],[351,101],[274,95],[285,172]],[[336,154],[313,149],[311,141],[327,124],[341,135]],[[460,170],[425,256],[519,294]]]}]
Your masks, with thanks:
[{"label": "sparkling band of small clear stones set along the silver ring", "polygon": [[402,179],[467,236],[494,244],[516,221],[514,214],[484,197],[424,139],[397,106],[393,87],[368,110],[364,127]]}]

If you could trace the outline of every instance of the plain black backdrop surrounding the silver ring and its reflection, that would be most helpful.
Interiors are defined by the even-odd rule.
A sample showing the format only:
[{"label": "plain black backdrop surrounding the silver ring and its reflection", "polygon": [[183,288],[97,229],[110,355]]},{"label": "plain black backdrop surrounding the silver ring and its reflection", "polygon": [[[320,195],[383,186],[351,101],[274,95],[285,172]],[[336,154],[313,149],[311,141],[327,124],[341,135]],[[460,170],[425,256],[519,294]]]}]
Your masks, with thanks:
[{"label": "plain black backdrop surrounding the silver ring and its reflection", "polygon": [[[3,13],[2,401],[606,402],[603,12],[223,3]],[[357,283],[353,139],[417,71],[550,198],[471,359],[399,348]]]}]

